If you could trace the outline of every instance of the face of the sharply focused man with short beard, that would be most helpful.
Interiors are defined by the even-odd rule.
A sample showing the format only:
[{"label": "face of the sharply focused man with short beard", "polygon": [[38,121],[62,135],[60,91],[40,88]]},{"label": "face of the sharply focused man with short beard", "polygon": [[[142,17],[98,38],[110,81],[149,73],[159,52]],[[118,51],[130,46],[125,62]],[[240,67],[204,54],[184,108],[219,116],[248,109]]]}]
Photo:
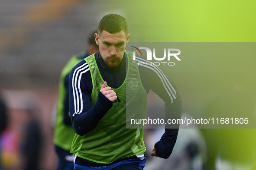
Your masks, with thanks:
[{"label": "face of the sharply focused man with short beard", "polygon": [[111,34],[104,30],[100,35],[95,34],[95,41],[99,45],[100,55],[107,66],[114,68],[120,64],[129,36],[129,34],[125,35],[124,31]]}]

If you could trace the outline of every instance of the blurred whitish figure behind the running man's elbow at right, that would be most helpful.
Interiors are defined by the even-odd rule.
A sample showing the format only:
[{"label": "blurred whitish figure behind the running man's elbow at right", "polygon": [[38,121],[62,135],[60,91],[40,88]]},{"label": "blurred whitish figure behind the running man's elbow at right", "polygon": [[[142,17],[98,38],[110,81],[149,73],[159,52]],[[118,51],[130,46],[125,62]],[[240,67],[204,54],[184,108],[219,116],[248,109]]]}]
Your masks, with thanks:
[{"label": "blurred whitish figure behind the running man's elbow at right", "polygon": [[[182,113],[182,119],[191,117]],[[145,137],[146,147],[161,138],[164,129],[147,129],[151,132]],[[146,151],[150,155],[149,151]],[[196,125],[180,125],[177,142],[168,161],[159,157],[149,157],[144,170],[204,170],[206,159],[206,143],[200,129]]]}]

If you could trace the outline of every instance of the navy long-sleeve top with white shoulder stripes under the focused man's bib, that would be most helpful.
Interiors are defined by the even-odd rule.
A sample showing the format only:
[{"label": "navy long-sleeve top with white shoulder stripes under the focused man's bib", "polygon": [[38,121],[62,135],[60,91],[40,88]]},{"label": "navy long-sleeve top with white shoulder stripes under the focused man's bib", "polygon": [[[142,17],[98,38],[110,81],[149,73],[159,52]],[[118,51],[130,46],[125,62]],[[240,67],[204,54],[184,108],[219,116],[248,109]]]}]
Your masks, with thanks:
[{"label": "navy long-sleeve top with white shoulder stripes under the focused man's bib", "polygon": [[[95,59],[104,81],[111,88],[118,88],[126,77],[126,54],[116,68],[108,67],[100,56],[95,54]],[[144,59],[138,59],[139,60]],[[92,80],[89,68],[84,68],[86,61],[82,60],[72,70],[69,76],[69,110],[71,123],[78,135],[85,135],[94,129],[100,119],[112,107],[113,102],[108,100],[101,92],[98,100],[91,108]],[[169,118],[181,117],[181,98],[174,83],[167,78],[157,66],[138,65],[143,87],[147,92],[152,90],[165,103],[165,114]],[[152,83],[153,82],[153,83]],[[81,91],[81,93],[79,92]],[[162,158],[168,158],[172,153],[178,135],[178,126],[175,129],[165,129],[165,133],[156,143],[156,154]]]}]

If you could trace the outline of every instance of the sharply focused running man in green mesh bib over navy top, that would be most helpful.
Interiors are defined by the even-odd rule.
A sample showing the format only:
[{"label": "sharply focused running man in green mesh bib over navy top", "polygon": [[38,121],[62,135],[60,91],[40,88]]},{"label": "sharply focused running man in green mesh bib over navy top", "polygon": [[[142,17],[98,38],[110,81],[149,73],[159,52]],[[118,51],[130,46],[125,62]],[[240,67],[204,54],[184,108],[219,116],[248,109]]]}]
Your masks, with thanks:
[{"label": "sharply focused running man in green mesh bib over navy top", "polygon": [[[126,114],[134,114],[126,113],[126,108],[129,110],[129,106],[136,105],[126,98],[126,94],[134,100],[141,99],[142,107],[134,111],[145,117],[145,94],[152,89],[165,101],[166,114],[180,117],[181,99],[175,86],[159,74],[155,66],[137,66],[136,62],[144,59],[134,61],[131,52],[125,50],[129,36],[127,22],[122,16],[104,16],[95,34],[99,52],[86,57],[71,70],[69,107],[76,132],[71,146],[75,170],[143,169],[146,162],[143,129],[126,129]],[[133,79],[139,92],[127,93]],[[164,85],[165,82],[169,83]],[[174,96],[169,96],[171,88],[164,86],[172,86]],[[168,158],[177,135],[178,129],[165,129],[151,155]]]}]

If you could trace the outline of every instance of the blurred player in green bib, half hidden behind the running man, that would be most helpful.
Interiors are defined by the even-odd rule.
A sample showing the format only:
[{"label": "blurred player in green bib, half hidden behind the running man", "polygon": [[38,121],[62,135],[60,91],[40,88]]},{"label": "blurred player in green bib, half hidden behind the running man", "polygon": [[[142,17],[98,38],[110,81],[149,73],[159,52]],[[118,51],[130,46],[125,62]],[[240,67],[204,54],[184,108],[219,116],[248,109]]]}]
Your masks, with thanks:
[{"label": "blurred player in green bib, half hidden behind the running man", "polygon": [[71,118],[68,108],[68,79],[71,69],[83,58],[96,53],[99,47],[95,43],[93,31],[89,36],[89,46],[87,52],[74,55],[62,70],[58,89],[57,113],[55,121],[54,144],[59,158],[57,170],[73,170],[74,154],[70,153],[71,143],[75,135],[71,126]]}]

